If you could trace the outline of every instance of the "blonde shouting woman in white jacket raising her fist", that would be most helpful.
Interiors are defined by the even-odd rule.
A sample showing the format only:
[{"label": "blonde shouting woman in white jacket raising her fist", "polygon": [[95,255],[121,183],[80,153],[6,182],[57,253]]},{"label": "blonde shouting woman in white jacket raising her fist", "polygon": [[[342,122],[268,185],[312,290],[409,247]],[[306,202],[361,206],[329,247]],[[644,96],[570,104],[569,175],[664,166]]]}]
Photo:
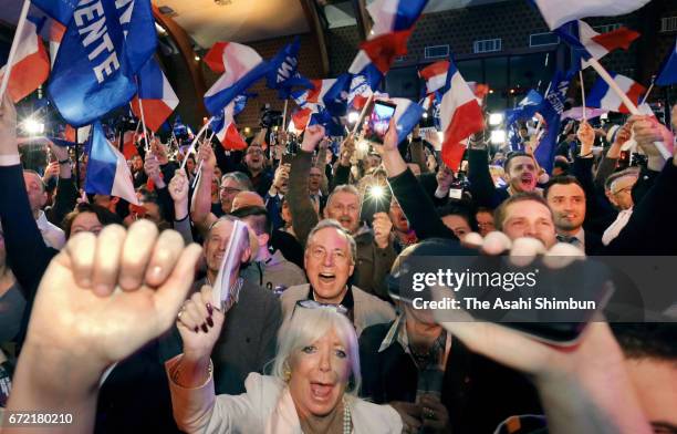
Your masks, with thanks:
[{"label": "blonde shouting woman in white jacket raising her fist", "polygon": [[357,337],[343,308],[312,300],[300,301],[280,329],[272,375],[251,373],[247,393],[215,396],[209,354],[223,316],[208,304],[210,293],[206,287],[184,304],[178,321],[184,353],[167,362],[174,417],[181,431],[402,432],[394,409],[355,395],[361,382]]}]

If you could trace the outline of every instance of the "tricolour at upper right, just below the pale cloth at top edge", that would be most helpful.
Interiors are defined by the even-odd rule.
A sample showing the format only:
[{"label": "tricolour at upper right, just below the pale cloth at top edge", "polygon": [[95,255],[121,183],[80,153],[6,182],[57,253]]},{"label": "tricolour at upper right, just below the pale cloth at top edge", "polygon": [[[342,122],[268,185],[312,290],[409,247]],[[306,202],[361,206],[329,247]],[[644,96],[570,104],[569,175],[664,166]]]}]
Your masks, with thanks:
[{"label": "tricolour at upper right, just below the pale cloth at top edge", "polygon": [[582,68],[589,66],[585,61],[590,58],[598,60],[614,50],[627,50],[633,41],[639,38],[639,33],[624,27],[607,33],[597,33],[581,20],[569,22],[555,32],[582,59]]}]

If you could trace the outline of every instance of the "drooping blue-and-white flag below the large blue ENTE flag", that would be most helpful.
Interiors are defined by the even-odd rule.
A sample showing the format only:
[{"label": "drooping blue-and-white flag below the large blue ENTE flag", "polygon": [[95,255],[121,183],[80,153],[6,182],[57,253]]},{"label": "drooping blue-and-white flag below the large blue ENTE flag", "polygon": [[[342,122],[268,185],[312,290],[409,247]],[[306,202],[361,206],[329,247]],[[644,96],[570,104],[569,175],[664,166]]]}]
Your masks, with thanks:
[{"label": "drooping blue-and-white flag below the large blue ENTE flag", "polygon": [[125,156],[106,138],[101,123],[92,127],[85,192],[122,197],[139,205]]}]

